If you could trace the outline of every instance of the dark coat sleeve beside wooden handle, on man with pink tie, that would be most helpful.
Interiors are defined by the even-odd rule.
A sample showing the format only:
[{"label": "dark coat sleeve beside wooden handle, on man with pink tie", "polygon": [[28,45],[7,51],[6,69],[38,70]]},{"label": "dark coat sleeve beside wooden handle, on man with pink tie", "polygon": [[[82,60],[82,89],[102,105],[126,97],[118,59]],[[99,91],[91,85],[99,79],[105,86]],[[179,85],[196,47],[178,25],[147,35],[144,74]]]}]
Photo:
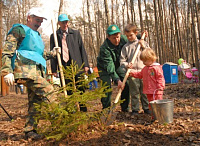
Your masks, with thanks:
[{"label": "dark coat sleeve beside wooden handle, on man with pink tie", "polygon": [[[54,47],[55,47],[54,36],[53,36],[53,34],[51,34],[51,36],[50,36],[50,51],[52,51]],[[51,58],[50,61],[51,61],[51,71],[52,71],[52,73],[57,73],[57,66],[58,66],[57,57]]]}]

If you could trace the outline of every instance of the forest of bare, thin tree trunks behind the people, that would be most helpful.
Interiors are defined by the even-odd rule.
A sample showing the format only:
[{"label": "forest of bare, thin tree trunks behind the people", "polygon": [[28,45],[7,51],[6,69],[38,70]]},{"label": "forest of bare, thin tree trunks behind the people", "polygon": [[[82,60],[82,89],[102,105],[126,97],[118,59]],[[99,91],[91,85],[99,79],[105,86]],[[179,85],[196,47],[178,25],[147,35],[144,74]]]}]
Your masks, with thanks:
[{"label": "forest of bare, thin tree trunks behind the people", "polygon": [[[53,20],[61,13],[68,14],[68,7],[76,11],[76,5],[69,5],[67,0],[54,0],[54,3],[58,4],[57,10],[47,12]],[[177,63],[179,58],[183,58],[191,65],[195,63],[200,70],[199,0],[80,0],[78,3],[82,5],[80,15],[69,15],[70,27],[81,32],[89,62],[94,65],[106,38],[107,27],[116,24],[123,34],[124,27],[133,23],[140,32],[148,31],[146,40],[155,49],[159,63]],[[42,0],[0,0],[1,51],[12,25],[26,24],[27,11],[42,5]],[[44,31],[45,28],[39,30],[45,49],[49,50],[50,36]]]}]

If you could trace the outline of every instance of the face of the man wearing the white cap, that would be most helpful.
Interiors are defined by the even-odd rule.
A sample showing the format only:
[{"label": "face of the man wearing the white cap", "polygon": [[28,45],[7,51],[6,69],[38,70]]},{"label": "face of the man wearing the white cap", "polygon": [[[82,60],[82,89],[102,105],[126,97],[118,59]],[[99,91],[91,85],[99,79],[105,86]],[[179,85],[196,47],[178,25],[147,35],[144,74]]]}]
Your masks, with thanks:
[{"label": "face of the man wearing the white cap", "polygon": [[28,16],[27,17],[27,26],[30,27],[31,29],[37,31],[38,28],[41,26],[43,22],[42,17],[37,17],[37,16]]}]

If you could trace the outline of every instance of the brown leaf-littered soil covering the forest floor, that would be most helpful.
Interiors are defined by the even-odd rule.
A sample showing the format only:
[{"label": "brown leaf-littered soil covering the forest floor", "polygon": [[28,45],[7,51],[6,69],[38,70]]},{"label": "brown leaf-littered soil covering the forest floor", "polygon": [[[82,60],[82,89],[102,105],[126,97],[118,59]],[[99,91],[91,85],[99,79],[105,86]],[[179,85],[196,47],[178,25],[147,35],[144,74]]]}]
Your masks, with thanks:
[{"label": "brown leaf-littered soil covering the forest floor", "polygon": [[[113,87],[113,99],[117,89]],[[141,110],[137,115],[120,112],[112,125],[103,126],[94,123],[77,135],[62,141],[26,140],[23,133],[27,116],[27,94],[16,94],[0,97],[0,103],[6,111],[13,116],[10,121],[5,112],[0,108],[0,145],[200,145],[200,87],[199,84],[170,84],[166,85],[164,99],[173,99],[174,116],[172,123],[152,122],[151,116]],[[94,108],[90,111],[101,110],[100,101],[95,101]]]}]

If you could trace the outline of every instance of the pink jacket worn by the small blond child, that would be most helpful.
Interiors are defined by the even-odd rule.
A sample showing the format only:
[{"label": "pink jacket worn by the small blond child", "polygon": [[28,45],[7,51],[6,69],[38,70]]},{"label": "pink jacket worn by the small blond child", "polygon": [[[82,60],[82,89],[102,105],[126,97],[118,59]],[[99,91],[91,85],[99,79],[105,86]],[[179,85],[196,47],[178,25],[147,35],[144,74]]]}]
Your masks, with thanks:
[{"label": "pink jacket worn by the small blond child", "polygon": [[143,79],[144,94],[163,94],[165,88],[165,79],[163,75],[162,65],[153,63],[151,66],[145,66],[141,72],[130,72],[132,77]]}]

